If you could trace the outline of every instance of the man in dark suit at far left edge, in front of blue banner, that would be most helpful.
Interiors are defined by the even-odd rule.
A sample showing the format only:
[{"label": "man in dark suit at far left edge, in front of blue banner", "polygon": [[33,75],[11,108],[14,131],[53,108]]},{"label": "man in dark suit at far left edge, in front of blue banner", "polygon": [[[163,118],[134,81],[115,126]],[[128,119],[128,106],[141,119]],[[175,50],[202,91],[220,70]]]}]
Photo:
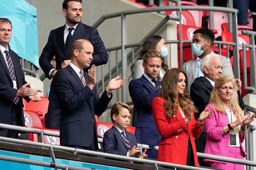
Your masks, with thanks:
[{"label": "man in dark suit at far left edge, in front of blue banner", "polygon": [[[7,18],[0,18],[0,123],[24,126],[23,102],[40,101],[37,92],[25,81],[20,65],[20,57],[11,50],[12,23]],[[0,136],[18,138],[18,131],[0,129]]]}]

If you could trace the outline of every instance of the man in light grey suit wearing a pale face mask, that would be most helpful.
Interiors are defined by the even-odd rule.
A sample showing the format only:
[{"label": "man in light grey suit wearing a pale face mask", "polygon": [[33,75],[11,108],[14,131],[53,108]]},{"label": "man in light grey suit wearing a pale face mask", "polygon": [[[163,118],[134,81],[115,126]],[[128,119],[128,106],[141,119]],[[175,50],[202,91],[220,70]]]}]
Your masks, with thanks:
[{"label": "man in light grey suit wearing a pale face mask", "polygon": [[[208,54],[213,54],[212,45],[214,41],[214,34],[207,28],[200,28],[195,30],[193,36],[192,51],[196,58],[183,63],[183,69],[187,73],[187,89],[190,93],[190,86],[195,78],[204,76],[200,71],[200,63],[202,59]],[[217,54],[218,55],[218,54]],[[223,63],[222,75],[230,75],[234,77],[230,59],[228,57],[218,55]]]}]

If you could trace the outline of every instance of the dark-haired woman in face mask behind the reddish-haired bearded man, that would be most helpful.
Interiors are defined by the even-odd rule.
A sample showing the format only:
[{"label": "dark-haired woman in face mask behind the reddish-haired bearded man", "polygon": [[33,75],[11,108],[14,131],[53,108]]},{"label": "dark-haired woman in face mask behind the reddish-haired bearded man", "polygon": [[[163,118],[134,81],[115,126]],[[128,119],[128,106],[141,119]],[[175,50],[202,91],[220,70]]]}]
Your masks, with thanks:
[{"label": "dark-haired woman in face mask behind the reddish-haired bearded man", "polygon": [[163,75],[168,70],[168,65],[165,64],[165,57],[167,57],[168,55],[168,47],[165,44],[165,40],[158,35],[150,36],[144,41],[139,59],[137,59],[136,62],[133,65],[131,65],[131,77],[133,79],[137,79],[144,74],[144,69],[142,66],[143,56],[149,50],[158,50],[160,51],[163,57],[163,63],[161,66],[160,74],[159,77],[157,77],[157,80],[161,81],[163,79]]}]

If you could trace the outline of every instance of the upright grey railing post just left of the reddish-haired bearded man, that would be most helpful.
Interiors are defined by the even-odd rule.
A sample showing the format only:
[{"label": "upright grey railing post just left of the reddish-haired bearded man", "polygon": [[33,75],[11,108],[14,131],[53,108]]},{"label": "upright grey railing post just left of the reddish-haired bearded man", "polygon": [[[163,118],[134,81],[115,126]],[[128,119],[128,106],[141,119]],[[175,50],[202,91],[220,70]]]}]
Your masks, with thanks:
[{"label": "upright grey railing post just left of the reddish-haired bearded man", "polygon": [[[128,78],[127,77],[127,51],[125,45],[127,43],[127,36],[126,36],[126,16],[121,15],[121,24],[122,24],[122,77],[121,78]],[[128,80],[125,81],[122,87],[122,102],[127,102],[128,100]]]}]

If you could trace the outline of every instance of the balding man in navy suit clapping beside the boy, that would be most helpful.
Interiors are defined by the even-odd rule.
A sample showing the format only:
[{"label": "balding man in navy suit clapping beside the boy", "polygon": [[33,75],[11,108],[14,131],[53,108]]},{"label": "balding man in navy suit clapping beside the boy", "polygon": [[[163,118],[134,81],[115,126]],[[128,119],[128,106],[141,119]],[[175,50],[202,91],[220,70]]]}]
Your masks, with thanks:
[{"label": "balding man in navy suit clapping beside the boy", "polygon": [[[123,86],[125,78],[109,81],[101,98],[97,92],[95,65],[84,72],[93,60],[93,45],[85,39],[71,46],[71,62],[60,69],[53,81],[61,109],[60,144],[79,149],[98,149],[95,115],[100,116],[112,98],[112,90]],[[94,115],[95,114],[95,115]]]}]

